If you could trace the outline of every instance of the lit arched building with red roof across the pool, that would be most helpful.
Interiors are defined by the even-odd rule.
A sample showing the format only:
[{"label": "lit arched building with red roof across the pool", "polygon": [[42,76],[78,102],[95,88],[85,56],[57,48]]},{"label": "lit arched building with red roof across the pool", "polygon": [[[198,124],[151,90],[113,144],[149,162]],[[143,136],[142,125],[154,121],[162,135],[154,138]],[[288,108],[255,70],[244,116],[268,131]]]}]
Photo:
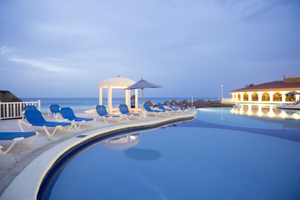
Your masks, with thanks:
[{"label": "lit arched building with red roof across the pool", "polygon": [[232,90],[230,91],[232,98],[229,100],[223,99],[223,102],[281,104],[299,100],[299,94],[286,95],[286,93],[291,91],[300,92],[300,77],[283,77],[283,81],[262,83]]}]

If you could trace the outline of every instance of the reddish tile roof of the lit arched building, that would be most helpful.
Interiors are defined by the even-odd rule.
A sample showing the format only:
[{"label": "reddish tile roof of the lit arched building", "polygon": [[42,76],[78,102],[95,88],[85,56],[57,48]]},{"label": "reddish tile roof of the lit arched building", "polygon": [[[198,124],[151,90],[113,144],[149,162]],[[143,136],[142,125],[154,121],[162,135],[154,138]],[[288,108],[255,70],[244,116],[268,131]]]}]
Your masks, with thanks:
[{"label": "reddish tile roof of the lit arched building", "polygon": [[250,87],[245,87],[237,90],[232,90],[230,92],[246,92],[246,91],[258,91],[258,90],[270,90],[270,89],[275,89],[275,90],[280,90],[283,88],[298,88],[300,90],[300,82],[297,83],[284,83],[283,81],[273,81],[273,82],[268,82],[268,83],[262,83],[259,85],[253,85]]}]

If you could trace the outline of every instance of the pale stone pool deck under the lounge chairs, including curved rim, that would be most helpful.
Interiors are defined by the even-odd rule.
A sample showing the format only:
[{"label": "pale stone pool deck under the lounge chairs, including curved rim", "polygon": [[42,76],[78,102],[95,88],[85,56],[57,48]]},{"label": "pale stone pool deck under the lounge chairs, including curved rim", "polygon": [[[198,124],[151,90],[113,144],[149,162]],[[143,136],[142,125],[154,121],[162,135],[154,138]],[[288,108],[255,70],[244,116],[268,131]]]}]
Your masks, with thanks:
[{"label": "pale stone pool deck under the lounge chairs, including curved rim", "polygon": [[[93,118],[88,113],[76,115],[78,117]],[[0,199],[36,199],[40,184],[55,161],[72,147],[98,135],[123,129],[134,130],[179,120],[184,121],[195,116],[196,111],[184,114],[166,114],[159,117],[147,113],[147,117],[140,118],[140,120],[131,117],[127,121],[122,116],[120,122],[110,119],[107,124],[104,123],[102,117],[97,116],[93,126],[83,123],[79,129],[72,127],[69,132],[57,130],[51,137],[47,136],[44,130],[38,127],[31,127],[28,131],[40,133],[31,144],[24,145],[21,142],[17,142],[6,155],[0,155]],[[0,132],[20,132],[17,124],[18,120],[1,120]],[[46,120],[54,121],[52,117]],[[49,128],[49,130],[52,129]],[[84,135],[84,137],[76,137],[78,135]],[[0,142],[0,145],[4,146],[4,149],[11,144],[11,141]]]}]

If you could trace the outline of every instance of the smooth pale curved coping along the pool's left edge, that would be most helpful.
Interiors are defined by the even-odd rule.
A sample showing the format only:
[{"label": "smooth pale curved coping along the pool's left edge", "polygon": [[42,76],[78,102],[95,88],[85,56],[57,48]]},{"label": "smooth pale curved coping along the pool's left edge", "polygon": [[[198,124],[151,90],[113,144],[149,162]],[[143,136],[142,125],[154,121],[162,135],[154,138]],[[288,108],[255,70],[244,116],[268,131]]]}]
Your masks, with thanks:
[{"label": "smooth pale curved coping along the pool's left edge", "polygon": [[[196,117],[197,112],[192,111],[184,115],[173,115],[167,118],[157,118],[148,121],[138,121],[130,124],[120,124],[114,127],[104,127],[90,132],[84,132],[85,137],[74,136],[65,140],[56,146],[46,150],[29,165],[27,165],[8,185],[0,199],[37,199],[38,191],[48,171],[60,157],[72,148],[91,140],[100,135],[113,134],[115,131],[135,130],[141,128],[150,128],[165,123],[176,123],[192,120]],[[80,135],[80,134],[79,134]]]}]

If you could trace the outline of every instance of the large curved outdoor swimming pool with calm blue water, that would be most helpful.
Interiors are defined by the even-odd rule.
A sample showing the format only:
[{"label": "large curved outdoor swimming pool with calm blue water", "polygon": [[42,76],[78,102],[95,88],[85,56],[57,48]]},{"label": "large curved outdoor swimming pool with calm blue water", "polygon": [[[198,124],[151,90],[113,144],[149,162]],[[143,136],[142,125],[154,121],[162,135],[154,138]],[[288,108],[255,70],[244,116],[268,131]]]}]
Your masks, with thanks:
[{"label": "large curved outdoor swimming pool with calm blue water", "polygon": [[45,199],[299,199],[297,113],[232,109],[95,143],[59,171]]}]

